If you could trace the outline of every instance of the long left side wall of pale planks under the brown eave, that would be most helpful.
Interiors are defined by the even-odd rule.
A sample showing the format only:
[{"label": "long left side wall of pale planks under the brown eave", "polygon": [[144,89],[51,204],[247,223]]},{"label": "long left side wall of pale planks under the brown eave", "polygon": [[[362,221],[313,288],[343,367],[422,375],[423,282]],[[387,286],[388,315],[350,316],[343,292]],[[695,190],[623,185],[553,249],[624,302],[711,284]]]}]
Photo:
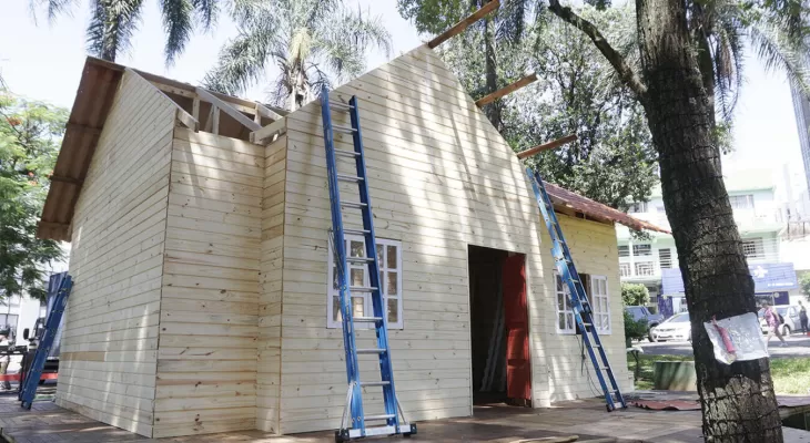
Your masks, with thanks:
[{"label": "long left side wall of pale planks under the brown eave", "polygon": [[125,73],[75,206],[57,404],[152,435],[174,105]]}]

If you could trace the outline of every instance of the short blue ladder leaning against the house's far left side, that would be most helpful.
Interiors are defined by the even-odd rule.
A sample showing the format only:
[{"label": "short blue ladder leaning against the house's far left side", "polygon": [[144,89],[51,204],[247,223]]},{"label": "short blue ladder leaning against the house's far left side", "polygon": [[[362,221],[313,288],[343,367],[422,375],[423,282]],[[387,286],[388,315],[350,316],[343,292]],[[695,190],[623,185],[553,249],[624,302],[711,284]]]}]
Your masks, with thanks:
[{"label": "short blue ladder leaning against the house's far left side", "polygon": [[22,382],[22,387],[20,388],[19,399],[22,401],[21,405],[24,409],[30,410],[33,399],[37,396],[39,379],[42,377],[42,370],[45,367],[48,354],[51,352],[53,340],[59,333],[59,324],[62,322],[62,313],[64,313],[64,308],[68,305],[68,296],[70,296],[70,290],[72,288],[73,280],[70,275],[67,275],[65,272],[65,276],[62,278],[62,281],[59,284],[59,288],[57,289],[51,311],[48,313],[45,329],[42,331],[42,337],[39,338],[33,361],[31,362],[31,367],[26,374],[26,380]]}]

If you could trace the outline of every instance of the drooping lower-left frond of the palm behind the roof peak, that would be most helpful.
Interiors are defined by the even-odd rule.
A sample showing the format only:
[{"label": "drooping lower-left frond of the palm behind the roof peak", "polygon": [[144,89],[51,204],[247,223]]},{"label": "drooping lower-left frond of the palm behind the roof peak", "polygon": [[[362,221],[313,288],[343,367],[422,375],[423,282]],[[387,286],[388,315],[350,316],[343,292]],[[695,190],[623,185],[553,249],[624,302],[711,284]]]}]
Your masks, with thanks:
[{"label": "drooping lower-left frond of the palm behind the roof peak", "polygon": [[216,66],[203,79],[212,91],[235,95],[264,74],[273,40],[272,29],[247,30],[231,40],[220,51]]}]

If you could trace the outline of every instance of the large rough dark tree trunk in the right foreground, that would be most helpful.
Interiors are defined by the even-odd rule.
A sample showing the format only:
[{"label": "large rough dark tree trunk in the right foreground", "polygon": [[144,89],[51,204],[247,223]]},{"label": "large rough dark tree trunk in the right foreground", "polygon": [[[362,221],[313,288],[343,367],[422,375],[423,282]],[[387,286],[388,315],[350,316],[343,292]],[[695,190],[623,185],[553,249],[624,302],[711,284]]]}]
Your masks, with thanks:
[{"label": "large rough dark tree trunk in the right foreground", "polygon": [[768,360],[719,363],[703,328],[713,316],[756,312],[756,302],[684,0],[636,0],[636,10],[644,105],[691,316],[703,433],[709,442],[781,442]]}]

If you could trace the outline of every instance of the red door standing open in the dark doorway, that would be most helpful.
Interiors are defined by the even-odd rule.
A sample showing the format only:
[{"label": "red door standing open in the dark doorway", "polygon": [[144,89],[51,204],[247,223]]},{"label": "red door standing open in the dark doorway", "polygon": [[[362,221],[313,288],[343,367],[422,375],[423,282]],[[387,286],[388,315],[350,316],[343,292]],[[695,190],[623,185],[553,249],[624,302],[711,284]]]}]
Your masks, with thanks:
[{"label": "red door standing open in the dark doorway", "polygon": [[510,403],[531,405],[531,365],[526,305],[526,256],[504,260],[503,290],[506,328],[506,396]]}]

